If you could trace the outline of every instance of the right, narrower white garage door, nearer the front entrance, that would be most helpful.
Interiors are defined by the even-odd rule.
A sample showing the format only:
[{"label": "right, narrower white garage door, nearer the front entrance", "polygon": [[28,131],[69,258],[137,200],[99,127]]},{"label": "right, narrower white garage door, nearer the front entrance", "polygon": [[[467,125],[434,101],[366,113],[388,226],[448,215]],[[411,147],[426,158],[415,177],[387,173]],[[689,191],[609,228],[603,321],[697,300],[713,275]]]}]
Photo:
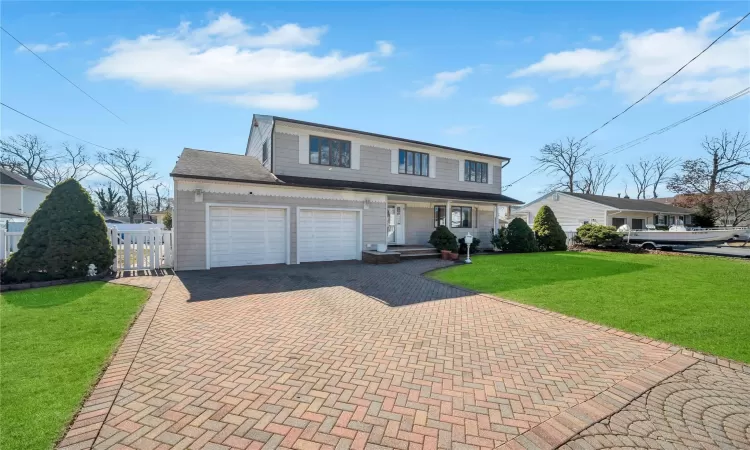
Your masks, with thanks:
[{"label": "right, narrower white garage door, nearer the front entrance", "polygon": [[297,230],[299,262],[358,259],[357,211],[301,209]]}]

